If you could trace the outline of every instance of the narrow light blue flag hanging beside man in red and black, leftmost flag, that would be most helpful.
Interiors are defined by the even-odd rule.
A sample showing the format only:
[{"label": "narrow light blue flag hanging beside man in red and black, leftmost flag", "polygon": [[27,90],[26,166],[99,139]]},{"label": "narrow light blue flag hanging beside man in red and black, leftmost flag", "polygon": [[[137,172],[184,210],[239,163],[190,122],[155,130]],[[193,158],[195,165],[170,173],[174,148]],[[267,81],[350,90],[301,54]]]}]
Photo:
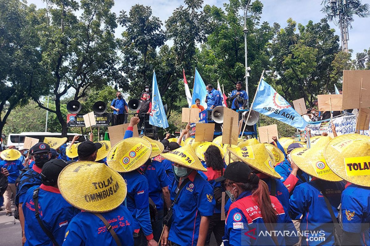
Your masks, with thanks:
[{"label": "narrow light blue flag hanging beside man in red and black, leftmost flag", "polygon": [[164,111],[161,94],[159,94],[155,71],[153,72],[152,88],[152,111],[149,114],[149,124],[155,125],[156,127],[167,128],[168,121],[166,117],[166,112]]}]

